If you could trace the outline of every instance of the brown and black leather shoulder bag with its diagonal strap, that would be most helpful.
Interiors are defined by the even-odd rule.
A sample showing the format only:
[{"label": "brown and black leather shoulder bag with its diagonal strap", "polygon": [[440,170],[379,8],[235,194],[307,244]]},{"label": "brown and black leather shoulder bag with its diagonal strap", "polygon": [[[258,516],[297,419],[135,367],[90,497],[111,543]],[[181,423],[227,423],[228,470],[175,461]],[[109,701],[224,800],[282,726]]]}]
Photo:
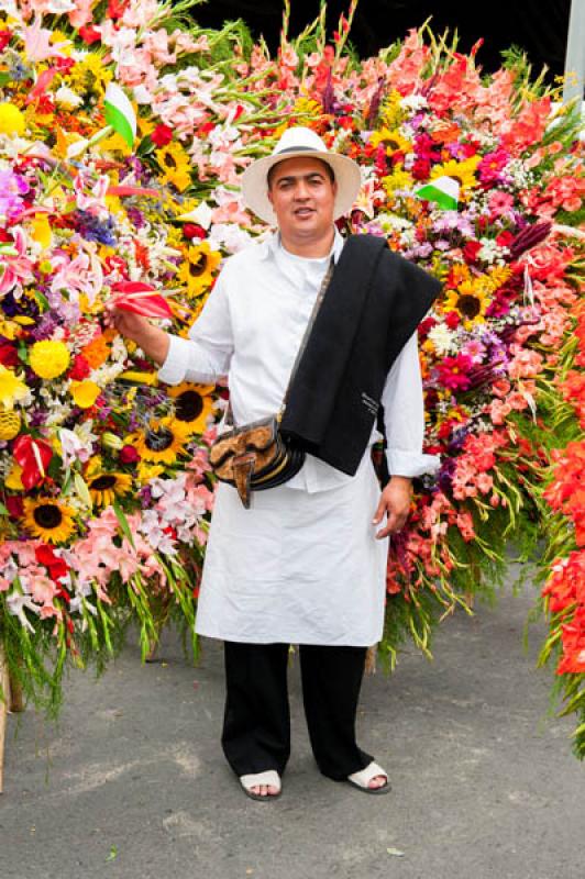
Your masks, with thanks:
[{"label": "brown and black leather shoulder bag with its diagonal strap", "polygon": [[[280,409],[276,415],[243,424],[240,427],[220,434],[209,450],[209,463],[221,482],[233,486],[245,509],[250,509],[251,492],[282,486],[291,479],[305,463],[305,452],[295,446],[294,441],[280,433],[280,422],[285,414],[288,392],[298,369],[300,358],[323,301],[329,281],[333,274],[333,258],[321,283],[302,336],[297,358],[288,380],[288,386]],[[231,405],[228,407],[227,424],[233,424]]]}]

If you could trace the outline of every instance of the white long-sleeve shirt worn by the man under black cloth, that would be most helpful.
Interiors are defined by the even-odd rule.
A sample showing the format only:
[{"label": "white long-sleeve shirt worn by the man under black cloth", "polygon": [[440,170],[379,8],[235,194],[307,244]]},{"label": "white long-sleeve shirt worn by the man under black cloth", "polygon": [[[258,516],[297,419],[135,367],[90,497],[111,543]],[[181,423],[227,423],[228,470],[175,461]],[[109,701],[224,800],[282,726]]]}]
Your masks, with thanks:
[{"label": "white long-sleeve shirt worn by the man under black cloth", "polygon": [[[236,424],[276,414],[331,255],[336,260],[343,244],[335,231],[331,254],[308,259],[288,253],[275,234],[231,256],[188,338],[170,336],[159,379],[168,385],[212,383],[227,377]],[[389,472],[413,477],[434,471],[439,458],[422,453],[424,415],[416,333],[388,374],[382,403]],[[374,430],[372,442],[376,436]],[[352,478],[307,455],[287,485],[314,492]]]}]

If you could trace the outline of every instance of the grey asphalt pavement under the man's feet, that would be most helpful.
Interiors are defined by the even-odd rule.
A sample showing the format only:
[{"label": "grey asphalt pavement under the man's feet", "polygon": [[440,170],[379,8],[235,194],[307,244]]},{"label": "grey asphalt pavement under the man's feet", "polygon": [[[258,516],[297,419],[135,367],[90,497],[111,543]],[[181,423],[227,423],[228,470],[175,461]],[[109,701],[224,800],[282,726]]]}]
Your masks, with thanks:
[{"label": "grey asphalt pavement under the man's feet", "polygon": [[[584,768],[572,721],[551,721],[533,592],[446,621],[429,664],[365,680],[363,746],[391,776],[367,797],[318,775],[298,667],[283,797],[255,803],[228,770],[220,646],[197,668],[129,647],[96,681],[71,672],[58,728],[9,721],[1,879],[583,879]],[[15,736],[15,737],[14,737]]]}]

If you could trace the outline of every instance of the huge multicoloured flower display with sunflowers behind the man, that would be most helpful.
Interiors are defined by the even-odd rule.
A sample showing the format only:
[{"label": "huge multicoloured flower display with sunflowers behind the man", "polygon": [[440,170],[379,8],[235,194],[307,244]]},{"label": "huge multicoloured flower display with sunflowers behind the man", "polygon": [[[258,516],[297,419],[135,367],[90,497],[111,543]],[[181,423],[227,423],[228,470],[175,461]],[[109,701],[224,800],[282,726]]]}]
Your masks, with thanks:
[{"label": "huge multicoloured flower display with sunflowers behind the man", "polygon": [[488,77],[479,45],[413,31],[356,60],[352,2],[331,42],[324,14],[289,38],[285,3],[272,58],[188,8],[0,0],[0,632],[31,693],[58,693],[66,656],[101,658],[129,614],[144,650],[172,610],[192,624],[225,390],[161,387],[106,307],[126,297],[185,335],[221,259],[266,232],[239,175],[287,125],[362,166],[342,231],[443,281],[419,333],[441,469],[393,541],[390,663],[494,588],[508,542],[528,557],[547,532],[551,430],[583,393],[554,381],[577,303],[578,113],[522,57]]}]

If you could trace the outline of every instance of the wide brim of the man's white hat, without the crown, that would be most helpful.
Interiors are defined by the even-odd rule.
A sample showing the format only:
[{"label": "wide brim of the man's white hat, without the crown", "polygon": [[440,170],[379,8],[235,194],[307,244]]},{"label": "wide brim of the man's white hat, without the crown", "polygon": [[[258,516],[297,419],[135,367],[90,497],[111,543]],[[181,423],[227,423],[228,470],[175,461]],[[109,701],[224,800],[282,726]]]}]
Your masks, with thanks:
[{"label": "wide brim of the man's white hat, without the crown", "polygon": [[318,149],[290,149],[258,158],[249,165],[242,177],[242,197],[246,208],[272,226],[277,225],[276,214],[268,198],[268,171],[289,158],[318,158],[329,165],[335,176],[338,192],[333,204],[333,220],[349,213],[362,187],[362,174],[356,162],[339,153]]}]

